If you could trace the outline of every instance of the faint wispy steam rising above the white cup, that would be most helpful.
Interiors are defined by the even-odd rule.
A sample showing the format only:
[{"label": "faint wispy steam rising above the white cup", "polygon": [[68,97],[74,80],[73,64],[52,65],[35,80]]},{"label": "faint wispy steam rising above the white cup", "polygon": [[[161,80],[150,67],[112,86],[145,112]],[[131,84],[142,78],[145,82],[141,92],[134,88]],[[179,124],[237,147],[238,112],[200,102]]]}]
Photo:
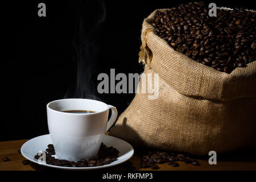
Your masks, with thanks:
[{"label": "faint wispy steam rising above the white cup", "polygon": [[76,20],[73,36],[73,47],[76,55],[73,60],[77,68],[76,87],[69,90],[64,98],[89,98],[100,100],[96,96],[93,73],[96,67],[97,30],[105,21],[106,10],[104,0],[78,1],[76,3]]}]

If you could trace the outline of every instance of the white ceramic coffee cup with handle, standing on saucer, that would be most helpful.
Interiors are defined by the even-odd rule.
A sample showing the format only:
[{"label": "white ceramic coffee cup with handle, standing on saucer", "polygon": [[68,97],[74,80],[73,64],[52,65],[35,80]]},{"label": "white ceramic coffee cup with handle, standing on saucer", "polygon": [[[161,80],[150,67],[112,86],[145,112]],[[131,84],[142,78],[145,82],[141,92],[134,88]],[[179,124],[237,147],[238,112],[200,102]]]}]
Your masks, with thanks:
[{"label": "white ceramic coffee cup with handle, standing on saucer", "polygon": [[[112,115],[108,121],[109,109]],[[89,110],[95,113],[65,113],[67,110]],[[89,99],[63,99],[47,104],[47,121],[56,155],[77,162],[94,158],[103,137],[117,119],[117,109],[104,102]]]}]

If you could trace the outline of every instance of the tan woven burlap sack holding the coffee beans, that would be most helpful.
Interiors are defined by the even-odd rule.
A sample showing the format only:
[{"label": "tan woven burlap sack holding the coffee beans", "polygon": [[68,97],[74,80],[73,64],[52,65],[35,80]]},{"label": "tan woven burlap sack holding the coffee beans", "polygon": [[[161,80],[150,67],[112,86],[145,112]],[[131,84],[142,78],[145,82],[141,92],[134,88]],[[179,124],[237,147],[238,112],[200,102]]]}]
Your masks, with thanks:
[{"label": "tan woven burlap sack holding the coffee beans", "polygon": [[143,22],[140,61],[159,74],[159,97],[137,93],[110,135],[195,155],[255,146],[256,61],[226,74],[174,51],[150,25],[157,11]]}]

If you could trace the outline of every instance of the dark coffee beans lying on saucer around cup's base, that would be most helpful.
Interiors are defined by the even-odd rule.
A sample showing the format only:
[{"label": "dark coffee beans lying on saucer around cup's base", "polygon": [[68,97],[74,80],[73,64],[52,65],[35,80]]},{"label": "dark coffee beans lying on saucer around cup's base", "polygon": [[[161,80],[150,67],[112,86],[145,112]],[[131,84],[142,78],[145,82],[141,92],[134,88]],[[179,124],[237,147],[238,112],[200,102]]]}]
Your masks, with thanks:
[{"label": "dark coffee beans lying on saucer around cup's base", "polygon": [[[48,144],[48,148],[46,149],[46,163],[53,166],[63,166],[63,167],[96,167],[96,166],[104,166],[106,164],[110,164],[117,160],[119,151],[114,147],[106,147],[105,144],[101,143],[100,151],[98,152],[98,156],[95,159],[81,159],[77,162],[72,162],[69,160],[61,160],[55,159],[55,149],[53,144]],[[42,153],[38,153],[35,155],[35,159],[39,159],[42,156]]]}]

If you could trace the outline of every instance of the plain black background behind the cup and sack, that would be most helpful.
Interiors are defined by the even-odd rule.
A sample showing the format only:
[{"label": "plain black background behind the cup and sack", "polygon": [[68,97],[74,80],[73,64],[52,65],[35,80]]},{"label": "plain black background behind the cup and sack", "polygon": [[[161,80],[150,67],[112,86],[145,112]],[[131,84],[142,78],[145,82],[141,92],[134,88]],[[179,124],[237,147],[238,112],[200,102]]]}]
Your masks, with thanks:
[{"label": "plain black background behind the cup and sack", "polygon": [[[40,2],[46,3],[46,17],[38,16]],[[94,89],[100,82],[98,73],[110,75],[110,68],[115,68],[115,74],[141,73],[138,52],[143,19],[155,9],[183,2],[189,1],[105,1],[105,21],[93,31],[94,46],[89,46],[89,52],[93,51],[96,57],[84,60]],[[250,1],[205,2],[255,9]],[[102,5],[99,0],[1,2],[0,140],[47,134],[46,104],[76,97],[77,55],[73,38],[77,18],[81,15],[84,19],[85,34],[92,33]],[[122,113],[134,94],[97,96]]]}]

